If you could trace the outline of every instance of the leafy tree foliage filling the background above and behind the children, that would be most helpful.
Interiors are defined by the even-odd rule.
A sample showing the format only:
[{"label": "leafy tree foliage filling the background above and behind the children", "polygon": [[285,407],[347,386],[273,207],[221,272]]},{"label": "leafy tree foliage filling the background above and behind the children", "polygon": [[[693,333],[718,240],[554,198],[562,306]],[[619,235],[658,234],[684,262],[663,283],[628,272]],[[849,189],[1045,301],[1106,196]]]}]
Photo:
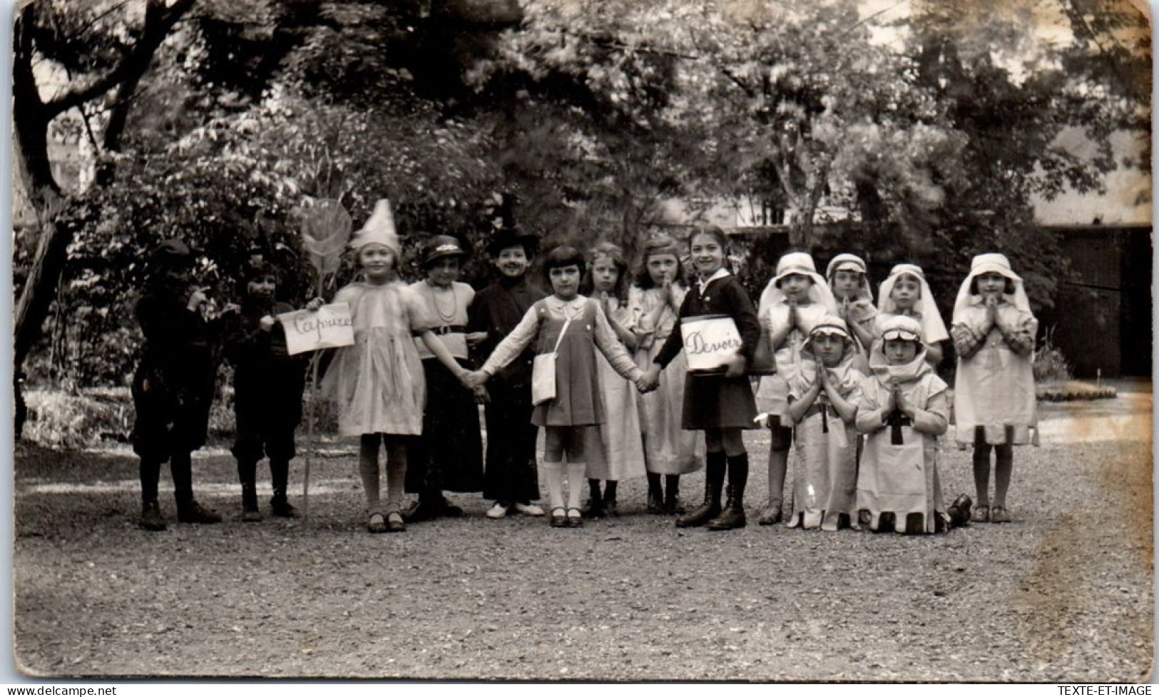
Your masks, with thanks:
[{"label": "leafy tree foliage filling the background above and behind the children", "polygon": [[[39,360],[121,383],[140,260],[166,237],[198,249],[219,306],[255,246],[305,299],[298,212],[323,198],[356,227],[389,198],[413,252],[446,232],[478,247],[503,191],[547,245],[629,254],[672,199],[692,216],[755,199],[794,213],[794,247],[923,264],[947,307],[970,256],[1004,252],[1049,307],[1066,267],[1030,197],[1122,165],[1109,136],[1150,114],[1145,23],[1103,0],[907,12],[888,27],[834,0],[198,2],[147,72],[53,124],[96,151],[101,186],[52,216],[72,241]],[[45,0],[30,21],[76,87],[143,35],[139,13]],[[1093,154],[1064,147],[1076,130]],[[17,279],[35,248],[19,239]],[[749,246],[759,288],[779,251]],[[418,275],[414,254],[401,270]],[[476,254],[468,276],[484,270]]]}]

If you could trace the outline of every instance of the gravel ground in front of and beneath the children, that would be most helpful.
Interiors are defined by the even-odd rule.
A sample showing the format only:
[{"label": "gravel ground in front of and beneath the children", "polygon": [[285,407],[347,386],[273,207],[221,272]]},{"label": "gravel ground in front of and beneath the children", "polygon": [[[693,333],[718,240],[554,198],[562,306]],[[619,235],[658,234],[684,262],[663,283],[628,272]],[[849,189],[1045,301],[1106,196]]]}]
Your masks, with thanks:
[{"label": "gravel ground in front of and beneath the children", "polygon": [[[1150,413],[1100,440],[1084,419],[1106,406],[1083,408],[1045,409],[1076,442],[1016,450],[1014,523],[931,537],[681,531],[643,511],[642,480],[621,484],[620,517],[580,530],[487,520],[487,502],[459,495],[465,518],[371,536],[352,452],[314,460],[308,525],[239,522],[233,463],[218,452],[195,460],[195,482],[225,524],[147,533],[133,521],[127,453],[21,449],[17,667],[41,676],[1146,681]],[[768,438],[745,441],[755,518]],[[941,467],[947,500],[972,493],[968,452],[945,452]],[[685,478],[685,499],[702,482]],[[172,498],[162,509],[175,516]]]}]

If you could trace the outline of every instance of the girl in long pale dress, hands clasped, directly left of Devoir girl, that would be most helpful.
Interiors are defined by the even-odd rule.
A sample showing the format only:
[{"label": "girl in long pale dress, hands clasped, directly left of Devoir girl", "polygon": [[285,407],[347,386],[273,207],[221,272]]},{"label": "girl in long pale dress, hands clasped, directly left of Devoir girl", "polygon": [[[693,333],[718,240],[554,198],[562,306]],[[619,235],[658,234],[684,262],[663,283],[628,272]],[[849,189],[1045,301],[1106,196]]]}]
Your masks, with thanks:
[{"label": "girl in long pale dress, hands clasped, directly left of Devoir girl", "polygon": [[[635,317],[636,365],[647,370],[669,335],[677,331],[680,304],[688,292],[676,240],[666,234],[655,234],[644,242],[636,282],[628,292]],[[684,375],[687,371],[688,364],[681,351],[664,369],[659,386],[640,397],[640,424],[648,470],[648,513],[683,514],[680,475],[704,467],[704,436],[698,430],[680,428]]]}]

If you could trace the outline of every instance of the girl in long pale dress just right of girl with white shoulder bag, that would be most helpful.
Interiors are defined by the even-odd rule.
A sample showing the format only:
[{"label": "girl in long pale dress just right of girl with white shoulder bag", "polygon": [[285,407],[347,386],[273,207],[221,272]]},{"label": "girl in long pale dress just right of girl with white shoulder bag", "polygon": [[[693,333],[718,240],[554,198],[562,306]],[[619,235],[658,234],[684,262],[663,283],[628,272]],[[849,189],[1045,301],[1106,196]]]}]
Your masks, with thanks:
[{"label": "girl in long pale dress just right of girl with white shoulder bag", "polygon": [[[600,242],[591,252],[590,297],[598,302],[607,324],[626,349],[636,348],[632,333],[632,308],[625,296],[628,266],[624,252],[611,242]],[[590,500],[584,515],[588,517],[615,516],[619,513],[615,491],[620,481],[644,475],[643,438],[640,433],[640,407],[636,387],[617,375],[603,356],[596,357],[599,370],[600,399],[604,423],[588,429],[588,488]],[[604,492],[599,481],[604,480]]]}]

